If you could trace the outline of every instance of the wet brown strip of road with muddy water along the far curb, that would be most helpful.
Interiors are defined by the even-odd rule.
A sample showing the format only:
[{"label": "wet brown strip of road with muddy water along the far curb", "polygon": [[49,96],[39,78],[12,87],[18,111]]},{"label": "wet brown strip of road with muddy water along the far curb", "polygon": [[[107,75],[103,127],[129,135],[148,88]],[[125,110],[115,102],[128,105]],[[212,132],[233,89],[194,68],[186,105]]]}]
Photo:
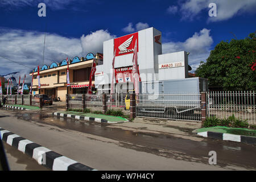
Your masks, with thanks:
[{"label": "wet brown strip of road with muddy water along the far curb", "polygon": [[[28,122],[36,121],[57,126],[60,129],[75,130],[81,133],[115,139],[121,143],[122,147],[166,158],[208,164],[209,151],[216,151],[218,166],[226,167],[231,165],[256,169],[256,147],[250,144],[209,138],[197,142],[166,134],[138,133],[109,127],[110,125],[106,123],[80,122],[71,118],[53,117],[43,111],[38,113],[16,111],[15,113],[16,117]],[[189,130],[188,132],[191,133]]]}]

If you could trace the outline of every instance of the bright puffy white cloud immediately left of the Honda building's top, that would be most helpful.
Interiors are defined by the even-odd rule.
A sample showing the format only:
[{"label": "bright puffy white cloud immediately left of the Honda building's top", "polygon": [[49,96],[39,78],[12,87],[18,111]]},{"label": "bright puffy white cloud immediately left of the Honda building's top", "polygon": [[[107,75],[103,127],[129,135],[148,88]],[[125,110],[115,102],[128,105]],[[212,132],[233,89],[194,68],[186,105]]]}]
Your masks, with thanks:
[{"label": "bright puffy white cloud immediately left of the Honda building's top", "polygon": [[115,35],[110,35],[108,30],[98,30],[91,32],[88,35],[81,36],[82,52],[83,53],[103,53],[103,42],[105,40],[113,39]]}]

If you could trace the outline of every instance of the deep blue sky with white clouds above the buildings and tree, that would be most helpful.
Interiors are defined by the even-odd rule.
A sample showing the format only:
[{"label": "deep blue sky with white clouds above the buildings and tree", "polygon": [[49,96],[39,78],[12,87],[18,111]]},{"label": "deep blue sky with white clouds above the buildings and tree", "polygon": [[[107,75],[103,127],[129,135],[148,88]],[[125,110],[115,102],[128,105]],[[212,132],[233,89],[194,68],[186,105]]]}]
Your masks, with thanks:
[{"label": "deep blue sky with white clouds above the buildings and tree", "polygon": [[[46,16],[38,15],[39,3]],[[193,73],[222,40],[256,31],[255,9],[256,0],[0,0],[0,75],[19,72],[17,80],[38,64],[103,53],[105,40],[148,27],[162,32],[163,53],[190,53]]]}]

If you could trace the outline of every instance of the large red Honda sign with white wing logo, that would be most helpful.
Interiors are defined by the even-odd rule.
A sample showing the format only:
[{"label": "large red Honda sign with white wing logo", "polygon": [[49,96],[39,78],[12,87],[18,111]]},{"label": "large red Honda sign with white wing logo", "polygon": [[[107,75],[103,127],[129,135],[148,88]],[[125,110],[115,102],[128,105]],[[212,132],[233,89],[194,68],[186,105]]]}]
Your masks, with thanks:
[{"label": "large red Honda sign with white wing logo", "polygon": [[127,55],[129,53],[133,53],[136,39],[137,39],[137,51],[139,51],[138,32],[114,39],[114,51],[116,50],[115,56],[122,56],[122,55]]}]

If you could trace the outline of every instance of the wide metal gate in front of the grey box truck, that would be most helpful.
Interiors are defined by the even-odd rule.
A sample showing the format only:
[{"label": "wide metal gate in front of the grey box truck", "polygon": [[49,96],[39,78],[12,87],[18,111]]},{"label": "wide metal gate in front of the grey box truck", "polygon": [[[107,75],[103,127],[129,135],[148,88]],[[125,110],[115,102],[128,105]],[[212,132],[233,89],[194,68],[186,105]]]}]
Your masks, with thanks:
[{"label": "wide metal gate in front of the grey box truck", "polygon": [[137,117],[201,121],[199,93],[139,94],[136,102]]}]

